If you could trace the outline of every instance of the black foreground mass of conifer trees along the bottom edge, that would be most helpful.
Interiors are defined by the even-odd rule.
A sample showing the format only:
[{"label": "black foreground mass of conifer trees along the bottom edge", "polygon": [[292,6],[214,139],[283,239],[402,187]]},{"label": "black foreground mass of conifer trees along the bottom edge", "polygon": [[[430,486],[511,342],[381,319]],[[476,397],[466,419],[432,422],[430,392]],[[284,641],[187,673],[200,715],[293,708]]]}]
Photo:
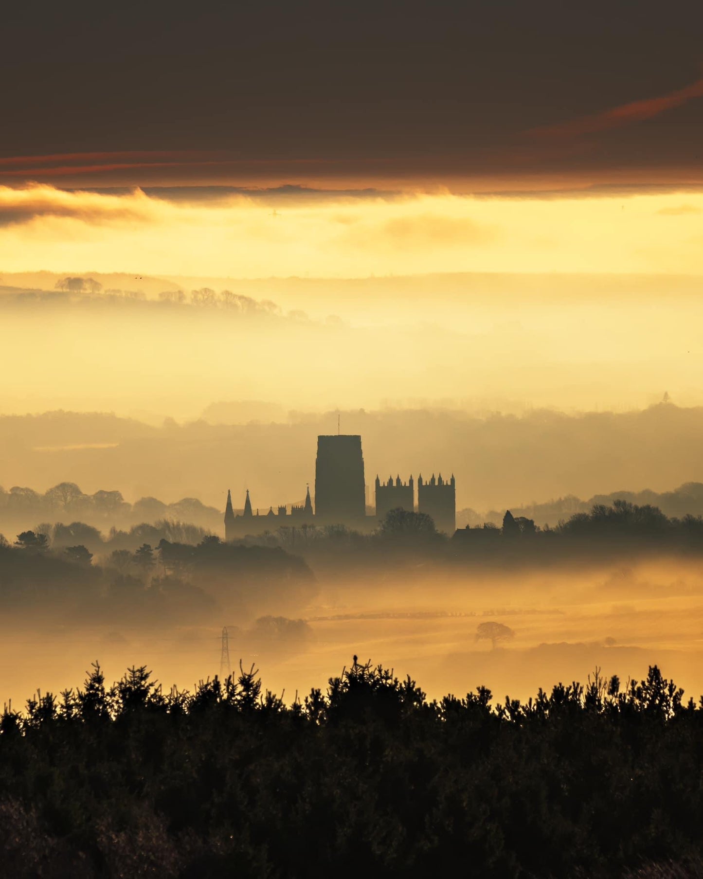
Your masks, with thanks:
[{"label": "black foreground mass of conifer trees along the bottom edge", "polygon": [[656,667],[527,704],[354,663],[293,707],[256,672],[5,710],[0,875],[701,875],[703,705]]}]

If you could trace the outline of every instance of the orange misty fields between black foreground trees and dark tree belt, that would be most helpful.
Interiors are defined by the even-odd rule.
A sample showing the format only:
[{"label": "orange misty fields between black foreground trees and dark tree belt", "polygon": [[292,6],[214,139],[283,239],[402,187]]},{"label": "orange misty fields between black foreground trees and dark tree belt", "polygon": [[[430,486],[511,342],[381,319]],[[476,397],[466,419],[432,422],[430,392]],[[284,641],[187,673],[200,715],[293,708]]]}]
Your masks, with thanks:
[{"label": "orange misty fields between black foreground trees and dark tree belt", "polygon": [[[523,698],[539,686],[583,680],[596,666],[625,681],[653,663],[687,695],[703,692],[703,579],[695,561],[628,560],[578,574],[562,567],[425,566],[397,576],[367,570],[349,580],[302,578],[299,585],[275,574],[270,581],[263,574],[239,580],[239,586],[220,583],[217,606],[192,596],[207,617],[203,624],[192,604],[178,609],[178,594],[164,596],[168,614],[143,621],[144,612],[134,608],[121,621],[78,616],[61,625],[34,611],[13,613],[0,647],[3,698],[18,704],[37,686],[58,691],[76,684],[96,658],[108,677],[146,664],[164,685],[192,686],[221,671],[223,626],[232,667],[240,657],[256,663],[267,686],[286,689],[290,698],[296,689],[323,686],[353,654],[382,657],[401,676],[422,679],[431,696],[485,685]],[[244,604],[236,598],[247,594]],[[477,640],[484,622],[500,623],[512,635],[495,646]]]}]

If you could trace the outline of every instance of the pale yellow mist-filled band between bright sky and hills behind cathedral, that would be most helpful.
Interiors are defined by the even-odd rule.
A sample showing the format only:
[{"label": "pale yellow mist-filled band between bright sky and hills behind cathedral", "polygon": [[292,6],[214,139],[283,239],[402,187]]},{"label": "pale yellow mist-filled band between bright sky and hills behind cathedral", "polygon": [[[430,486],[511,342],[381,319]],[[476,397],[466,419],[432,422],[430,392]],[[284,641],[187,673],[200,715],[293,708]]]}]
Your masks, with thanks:
[{"label": "pale yellow mist-filled band between bright sky and hills behind cathedral", "polygon": [[692,279],[459,275],[255,290],[163,281],[140,299],[141,276],[116,289],[92,278],[97,293],[91,278],[77,279],[88,285],[78,293],[5,288],[0,367],[21,381],[5,382],[0,410],[153,420],[232,399],[318,411],[622,410],[665,392],[703,403]]}]

